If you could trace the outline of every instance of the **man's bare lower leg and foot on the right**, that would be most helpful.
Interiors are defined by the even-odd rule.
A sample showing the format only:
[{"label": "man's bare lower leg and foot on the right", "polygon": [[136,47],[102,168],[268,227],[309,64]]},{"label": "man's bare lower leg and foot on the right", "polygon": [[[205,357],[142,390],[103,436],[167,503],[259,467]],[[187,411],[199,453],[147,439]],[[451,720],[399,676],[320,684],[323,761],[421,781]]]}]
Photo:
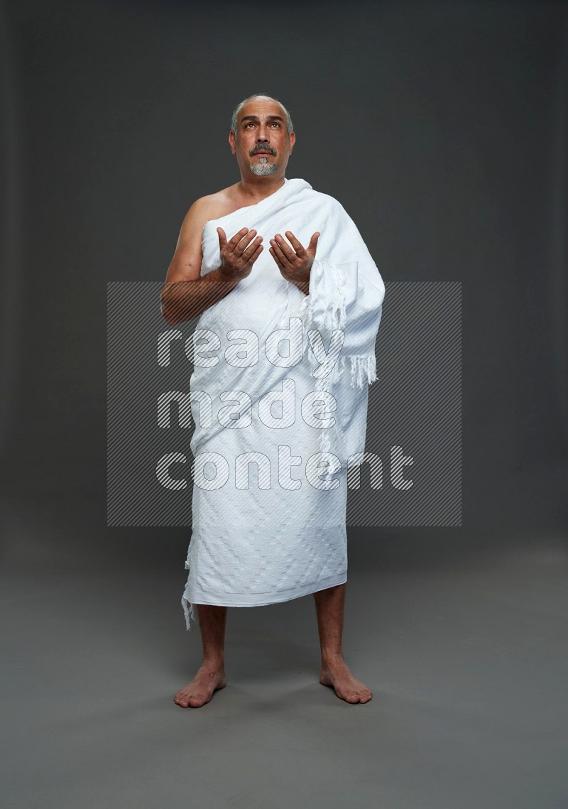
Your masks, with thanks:
[{"label": "man's bare lower leg and foot on the right", "polygon": [[320,590],[314,599],[321,646],[320,683],[334,688],[345,702],[368,702],[373,697],[371,691],[351,674],[341,649],[345,584]]}]

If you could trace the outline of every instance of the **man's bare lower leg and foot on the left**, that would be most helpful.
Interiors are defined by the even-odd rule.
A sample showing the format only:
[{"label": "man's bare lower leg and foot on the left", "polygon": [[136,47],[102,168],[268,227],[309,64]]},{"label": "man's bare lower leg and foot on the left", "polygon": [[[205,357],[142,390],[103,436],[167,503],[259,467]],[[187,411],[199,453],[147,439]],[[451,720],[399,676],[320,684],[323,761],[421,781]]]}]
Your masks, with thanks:
[{"label": "man's bare lower leg and foot on the left", "polygon": [[196,676],[181,688],[174,702],[182,708],[200,708],[209,702],[215,691],[225,688],[225,626],[227,607],[196,604],[203,645],[203,659]]}]

